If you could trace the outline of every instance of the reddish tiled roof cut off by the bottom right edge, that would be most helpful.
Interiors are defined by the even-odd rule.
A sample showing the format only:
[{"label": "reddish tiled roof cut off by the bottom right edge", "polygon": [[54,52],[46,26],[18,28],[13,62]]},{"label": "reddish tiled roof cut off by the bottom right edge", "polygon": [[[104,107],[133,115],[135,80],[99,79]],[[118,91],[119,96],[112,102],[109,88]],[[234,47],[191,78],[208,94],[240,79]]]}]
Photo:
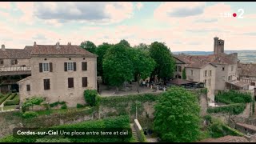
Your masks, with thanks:
[{"label": "reddish tiled roof cut off by the bottom right edge", "polygon": [[200,142],[249,142],[249,141],[244,137],[227,135],[221,138],[207,138]]}]

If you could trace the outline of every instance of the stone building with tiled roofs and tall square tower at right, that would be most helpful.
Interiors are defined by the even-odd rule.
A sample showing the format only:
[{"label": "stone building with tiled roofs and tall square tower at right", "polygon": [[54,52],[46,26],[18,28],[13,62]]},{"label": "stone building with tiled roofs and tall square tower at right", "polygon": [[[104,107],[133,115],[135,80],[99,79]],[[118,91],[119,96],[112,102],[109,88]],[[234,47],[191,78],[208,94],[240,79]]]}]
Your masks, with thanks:
[{"label": "stone building with tiled roofs and tall square tower at right", "polygon": [[177,66],[175,78],[182,78],[182,70],[186,69],[187,80],[206,83],[211,95],[210,101],[214,101],[213,95],[218,90],[227,89],[226,82],[238,80],[238,54],[225,54],[224,40],[218,37],[214,38],[214,54],[174,54],[174,58]]}]

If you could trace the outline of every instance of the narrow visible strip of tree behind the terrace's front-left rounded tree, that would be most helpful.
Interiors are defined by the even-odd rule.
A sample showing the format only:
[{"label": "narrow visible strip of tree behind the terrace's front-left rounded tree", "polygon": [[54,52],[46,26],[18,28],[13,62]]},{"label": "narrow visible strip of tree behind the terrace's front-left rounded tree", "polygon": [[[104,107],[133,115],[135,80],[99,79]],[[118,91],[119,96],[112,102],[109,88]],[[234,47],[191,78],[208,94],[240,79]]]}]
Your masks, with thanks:
[{"label": "narrow visible strip of tree behind the terrace's front-left rounded tree", "polygon": [[113,45],[104,42],[104,43],[102,43],[102,45],[99,45],[98,48],[95,51],[95,53],[98,55],[98,58],[97,58],[97,75],[102,76],[103,83],[106,83],[106,79],[104,78],[104,74],[103,74],[102,62],[103,62],[104,55],[106,54],[106,51],[108,49],[110,49],[111,46],[113,46]]}]

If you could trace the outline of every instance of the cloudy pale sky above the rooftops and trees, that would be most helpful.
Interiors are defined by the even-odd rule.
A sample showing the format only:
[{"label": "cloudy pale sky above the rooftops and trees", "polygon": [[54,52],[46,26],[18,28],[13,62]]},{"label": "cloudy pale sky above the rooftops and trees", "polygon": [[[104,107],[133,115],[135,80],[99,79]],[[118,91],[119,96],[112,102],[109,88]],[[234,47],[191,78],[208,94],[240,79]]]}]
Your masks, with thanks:
[{"label": "cloudy pale sky above the rooftops and trees", "polygon": [[[256,50],[256,2],[0,2],[0,44],[165,42],[171,51]],[[239,10],[242,9],[242,10]],[[236,17],[233,14],[236,13]]]}]

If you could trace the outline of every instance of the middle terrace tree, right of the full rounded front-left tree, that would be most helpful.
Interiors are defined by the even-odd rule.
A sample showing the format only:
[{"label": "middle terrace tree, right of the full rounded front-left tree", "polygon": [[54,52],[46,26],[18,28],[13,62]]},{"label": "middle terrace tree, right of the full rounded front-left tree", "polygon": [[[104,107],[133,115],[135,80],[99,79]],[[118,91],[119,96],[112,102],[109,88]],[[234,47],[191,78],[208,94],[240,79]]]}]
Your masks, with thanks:
[{"label": "middle terrace tree, right of the full rounded front-left tree", "polygon": [[150,77],[156,62],[154,62],[154,59],[150,57],[150,54],[141,49],[129,49],[129,55],[134,64],[134,76],[136,77],[139,85],[139,80],[141,78],[146,79]]}]

